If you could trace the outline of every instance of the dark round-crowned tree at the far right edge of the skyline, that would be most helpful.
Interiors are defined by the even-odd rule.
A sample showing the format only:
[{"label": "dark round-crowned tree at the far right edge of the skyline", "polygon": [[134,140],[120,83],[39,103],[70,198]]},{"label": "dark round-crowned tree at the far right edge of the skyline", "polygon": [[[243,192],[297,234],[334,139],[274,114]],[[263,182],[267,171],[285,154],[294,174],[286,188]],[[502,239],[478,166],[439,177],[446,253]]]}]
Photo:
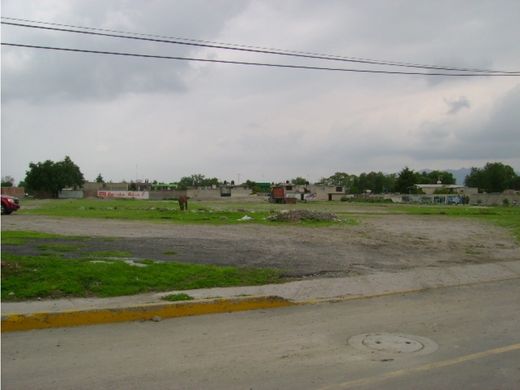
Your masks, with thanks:
[{"label": "dark round-crowned tree at the far right edge of the skyline", "polygon": [[484,168],[471,168],[464,183],[485,192],[502,192],[518,185],[518,176],[509,165],[500,162],[487,163]]}]

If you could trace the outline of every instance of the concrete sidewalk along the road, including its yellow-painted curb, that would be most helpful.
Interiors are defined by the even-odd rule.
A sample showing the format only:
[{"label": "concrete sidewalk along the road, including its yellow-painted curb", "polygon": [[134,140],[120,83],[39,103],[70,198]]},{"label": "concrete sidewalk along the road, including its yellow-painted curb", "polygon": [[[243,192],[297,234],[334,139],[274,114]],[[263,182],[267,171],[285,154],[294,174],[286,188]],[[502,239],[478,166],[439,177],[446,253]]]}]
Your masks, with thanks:
[{"label": "concrete sidewalk along the road, including its yellow-painted curb", "polygon": [[381,272],[264,286],[185,290],[182,292],[194,300],[175,303],[161,298],[180,291],[117,298],[3,303],[2,332],[275,308],[516,278],[520,278],[520,260],[416,268],[396,273]]}]

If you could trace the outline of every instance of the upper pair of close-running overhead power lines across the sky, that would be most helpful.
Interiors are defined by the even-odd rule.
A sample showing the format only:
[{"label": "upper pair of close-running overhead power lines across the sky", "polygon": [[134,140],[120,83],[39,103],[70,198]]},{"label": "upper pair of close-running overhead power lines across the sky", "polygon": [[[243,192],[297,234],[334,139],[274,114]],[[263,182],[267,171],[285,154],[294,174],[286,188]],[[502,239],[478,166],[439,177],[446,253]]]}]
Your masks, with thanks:
[{"label": "upper pair of close-running overhead power lines across the sky", "polygon": [[[490,69],[460,68],[460,67],[451,67],[451,66],[442,66],[442,65],[422,65],[422,64],[413,64],[413,63],[407,63],[407,62],[374,60],[374,59],[357,58],[357,57],[345,57],[345,56],[319,54],[319,53],[311,53],[311,52],[303,52],[303,51],[295,51],[295,50],[283,50],[283,49],[264,48],[264,47],[249,46],[249,45],[219,43],[219,42],[190,39],[190,38],[169,37],[169,36],[164,36],[164,35],[124,32],[124,31],[109,30],[109,29],[96,28],[96,27],[83,27],[83,26],[75,26],[75,25],[68,25],[68,24],[61,24],[61,23],[50,23],[50,22],[34,21],[34,20],[29,20],[29,19],[11,18],[11,17],[5,17],[5,16],[2,17],[2,19],[12,20],[12,21],[16,21],[16,22],[24,22],[24,23],[5,22],[5,21],[1,22],[2,24],[5,24],[5,25],[24,27],[24,28],[34,28],[34,29],[42,29],[42,30],[76,33],[76,34],[96,35],[96,36],[105,36],[105,37],[122,38],[122,39],[134,39],[134,40],[151,41],[151,42],[157,42],[157,43],[169,43],[169,44],[195,46],[195,47],[207,47],[207,48],[214,48],[214,49],[221,49],[221,50],[234,50],[234,51],[240,51],[240,52],[280,55],[280,56],[289,56],[289,57],[298,57],[298,58],[307,58],[307,59],[342,61],[342,62],[370,64],[370,65],[397,66],[397,67],[430,69],[430,70],[444,70],[444,71],[454,71],[454,72],[512,73],[512,74],[516,74],[516,73],[520,72],[520,71],[500,71],[500,70],[490,70]],[[32,24],[26,24],[27,22],[32,23]],[[59,26],[59,27],[46,27],[46,26],[35,25],[35,24],[43,24],[43,25],[47,25],[47,26]],[[67,27],[67,28],[63,28],[63,27]],[[81,29],[81,30],[78,30],[78,29]],[[82,31],[82,30],[88,30],[88,31]],[[96,31],[102,31],[102,32],[96,32]]]}]

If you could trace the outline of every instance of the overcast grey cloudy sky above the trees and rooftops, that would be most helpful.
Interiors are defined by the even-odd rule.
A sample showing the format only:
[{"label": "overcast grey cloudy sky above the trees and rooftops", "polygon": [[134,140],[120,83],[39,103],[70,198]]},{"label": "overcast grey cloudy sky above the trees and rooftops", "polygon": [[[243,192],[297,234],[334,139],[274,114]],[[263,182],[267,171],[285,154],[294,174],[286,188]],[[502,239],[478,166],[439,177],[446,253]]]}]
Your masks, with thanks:
[{"label": "overcast grey cloudy sky above the trees and rooftops", "polygon": [[[451,67],[520,70],[518,0],[2,0],[2,16]],[[7,20],[3,20],[7,21]],[[2,42],[312,66],[2,25]],[[425,72],[424,69],[392,68]],[[427,70],[426,70],[427,72]],[[69,155],[86,179],[317,180],[336,171],[520,171],[520,77],[433,77],[2,46],[2,175]]]}]

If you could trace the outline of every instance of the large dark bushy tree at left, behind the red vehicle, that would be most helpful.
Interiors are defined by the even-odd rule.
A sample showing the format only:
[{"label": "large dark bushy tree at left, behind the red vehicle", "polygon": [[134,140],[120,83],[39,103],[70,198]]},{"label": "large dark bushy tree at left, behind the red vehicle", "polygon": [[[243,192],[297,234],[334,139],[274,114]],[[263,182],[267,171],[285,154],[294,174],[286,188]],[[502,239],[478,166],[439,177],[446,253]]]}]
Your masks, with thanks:
[{"label": "large dark bushy tree at left, behind the red vehicle", "polygon": [[63,161],[46,160],[43,163],[30,163],[26,172],[25,185],[29,192],[44,192],[57,198],[65,187],[78,188],[83,186],[85,179],[79,167],[69,156]]}]

